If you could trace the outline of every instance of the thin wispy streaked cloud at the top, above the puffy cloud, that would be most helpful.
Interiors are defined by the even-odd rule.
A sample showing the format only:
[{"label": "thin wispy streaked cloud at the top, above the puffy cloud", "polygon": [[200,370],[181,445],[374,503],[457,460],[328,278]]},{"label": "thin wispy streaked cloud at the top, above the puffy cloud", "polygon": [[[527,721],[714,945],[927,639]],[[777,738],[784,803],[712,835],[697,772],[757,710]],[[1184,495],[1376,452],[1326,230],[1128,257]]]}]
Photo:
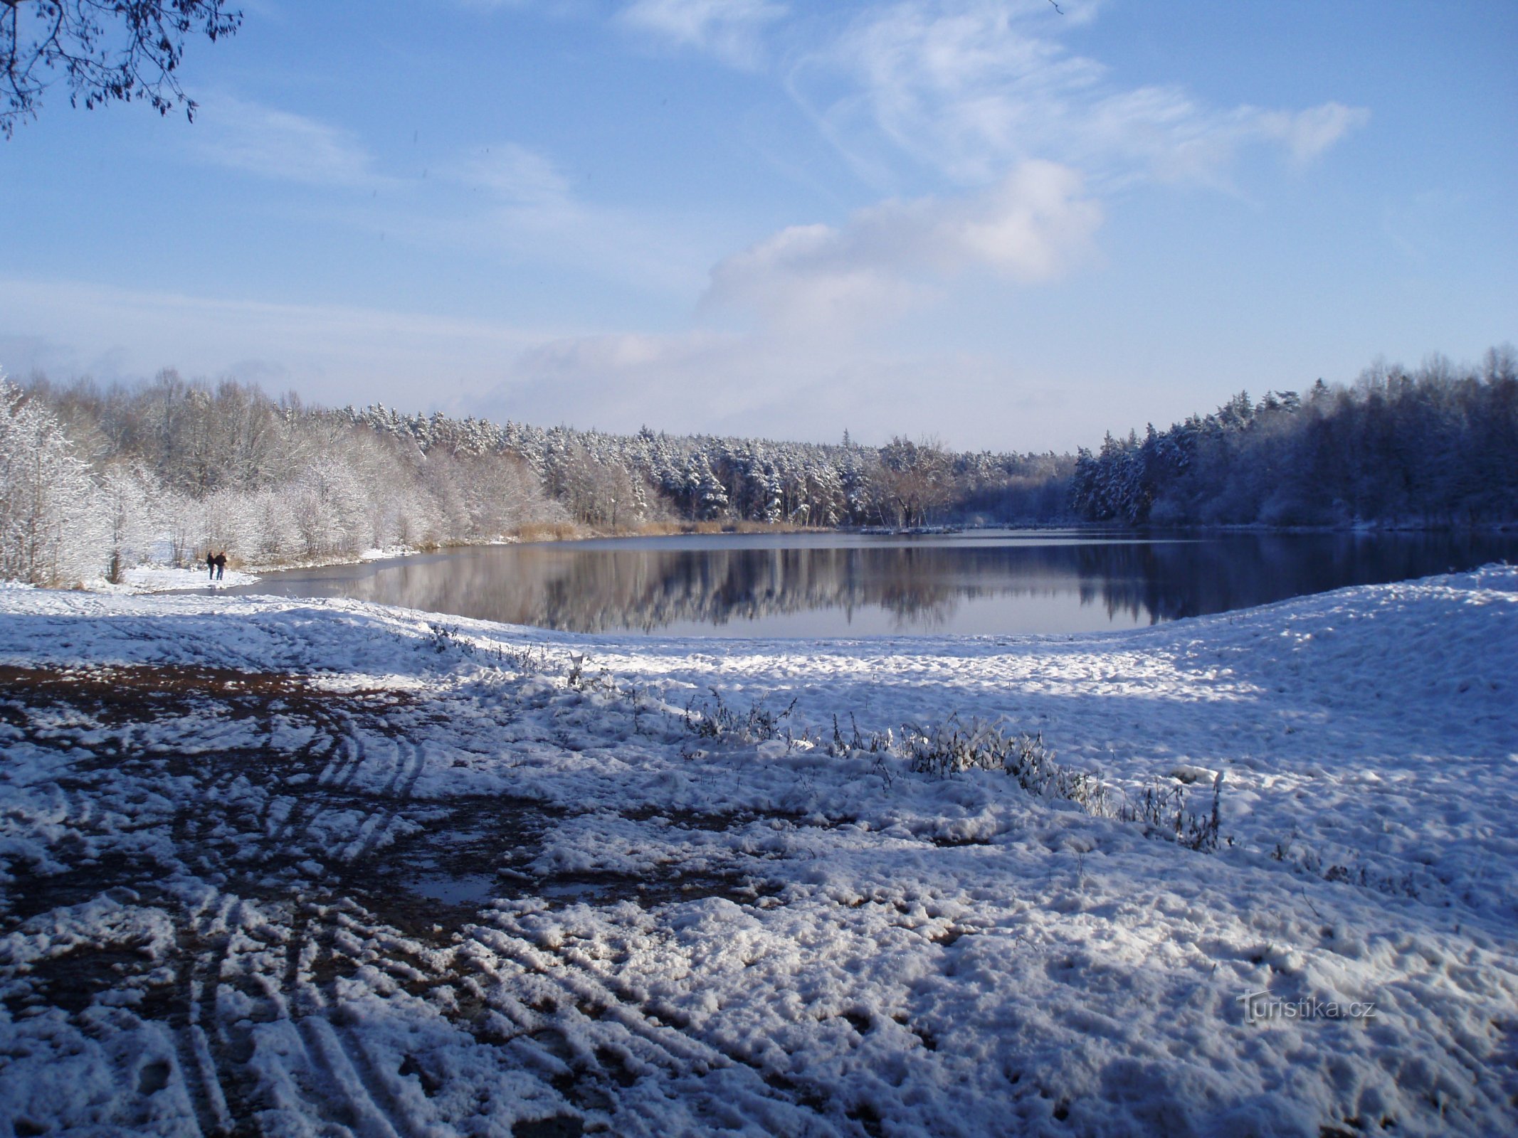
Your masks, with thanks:
[{"label": "thin wispy streaked cloud at the top, above the puffy cloud", "polygon": [[788,86],[861,170],[879,176],[905,152],[968,184],[1028,158],[1107,179],[1220,182],[1243,144],[1280,143],[1304,162],[1368,118],[1339,103],[1219,109],[1176,86],[1122,88],[1058,39],[1094,11],[1072,5],[1061,18],[1038,0],[906,0],[802,55]]}]

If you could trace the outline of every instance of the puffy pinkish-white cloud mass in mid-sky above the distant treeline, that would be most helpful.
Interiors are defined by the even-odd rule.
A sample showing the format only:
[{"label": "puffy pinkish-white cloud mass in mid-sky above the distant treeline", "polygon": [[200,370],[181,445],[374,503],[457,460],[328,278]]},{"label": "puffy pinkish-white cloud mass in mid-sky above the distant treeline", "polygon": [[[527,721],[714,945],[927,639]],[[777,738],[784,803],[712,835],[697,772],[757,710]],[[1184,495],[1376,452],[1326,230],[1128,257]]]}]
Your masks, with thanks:
[{"label": "puffy pinkish-white cloud mass in mid-sky above the distant treeline", "polygon": [[[805,422],[820,439],[847,426],[882,440],[929,429],[991,445],[1003,428],[967,426],[962,407],[1005,422],[1057,404],[1060,391],[988,357],[903,357],[873,332],[955,278],[1057,278],[1088,255],[1101,222],[1075,170],[1031,161],[979,193],[883,202],[839,226],[791,226],[712,270],[704,307],[753,311],[753,326],[545,340],[474,407],[618,431],[651,423],[794,437]],[[1044,445],[1026,442],[1035,443]]]}]

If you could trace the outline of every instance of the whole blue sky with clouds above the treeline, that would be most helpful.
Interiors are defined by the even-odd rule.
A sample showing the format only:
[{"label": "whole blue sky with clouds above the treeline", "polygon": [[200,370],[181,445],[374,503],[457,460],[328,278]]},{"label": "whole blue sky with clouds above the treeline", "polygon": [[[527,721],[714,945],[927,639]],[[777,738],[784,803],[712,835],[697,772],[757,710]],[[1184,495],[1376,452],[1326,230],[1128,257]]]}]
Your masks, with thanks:
[{"label": "whole blue sky with clouds above the treeline", "polygon": [[0,141],[0,369],[1066,451],[1518,340],[1510,0],[247,0]]}]

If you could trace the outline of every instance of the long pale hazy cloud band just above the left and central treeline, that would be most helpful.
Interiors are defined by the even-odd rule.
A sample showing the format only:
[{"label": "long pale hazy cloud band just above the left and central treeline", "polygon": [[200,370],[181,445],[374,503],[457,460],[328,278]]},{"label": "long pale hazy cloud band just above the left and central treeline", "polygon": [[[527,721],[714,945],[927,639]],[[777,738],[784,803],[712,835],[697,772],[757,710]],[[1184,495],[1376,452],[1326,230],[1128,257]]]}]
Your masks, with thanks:
[{"label": "long pale hazy cloud band just above the left and central treeline", "polygon": [[780,328],[607,335],[17,278],[0,278],[0,366],[12,376],[41,367],[55,379],[111,381],[178,367],[328,405],[383,401],[616,431],[833,440],[849,428],[862,440],[937,432],[961,446],[1026,449],[1087,443],[1091,432],[1058,376],[1037,367]]}]

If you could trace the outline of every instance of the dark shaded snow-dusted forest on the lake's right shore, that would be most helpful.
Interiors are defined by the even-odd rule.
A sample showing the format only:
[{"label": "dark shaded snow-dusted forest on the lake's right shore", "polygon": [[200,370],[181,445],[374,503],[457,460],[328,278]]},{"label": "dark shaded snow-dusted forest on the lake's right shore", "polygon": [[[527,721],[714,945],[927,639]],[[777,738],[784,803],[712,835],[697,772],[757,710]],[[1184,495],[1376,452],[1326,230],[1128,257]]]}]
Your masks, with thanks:
[{"label": "dark shaded snow-dusted forest on the lake's right shore", "polygon": [[1518,352],[1480,367],[1372,364],[1305,396],[1240,391],[1214,414],[1081,449],[1075,508],[1129,525],[1518,520]]}]

